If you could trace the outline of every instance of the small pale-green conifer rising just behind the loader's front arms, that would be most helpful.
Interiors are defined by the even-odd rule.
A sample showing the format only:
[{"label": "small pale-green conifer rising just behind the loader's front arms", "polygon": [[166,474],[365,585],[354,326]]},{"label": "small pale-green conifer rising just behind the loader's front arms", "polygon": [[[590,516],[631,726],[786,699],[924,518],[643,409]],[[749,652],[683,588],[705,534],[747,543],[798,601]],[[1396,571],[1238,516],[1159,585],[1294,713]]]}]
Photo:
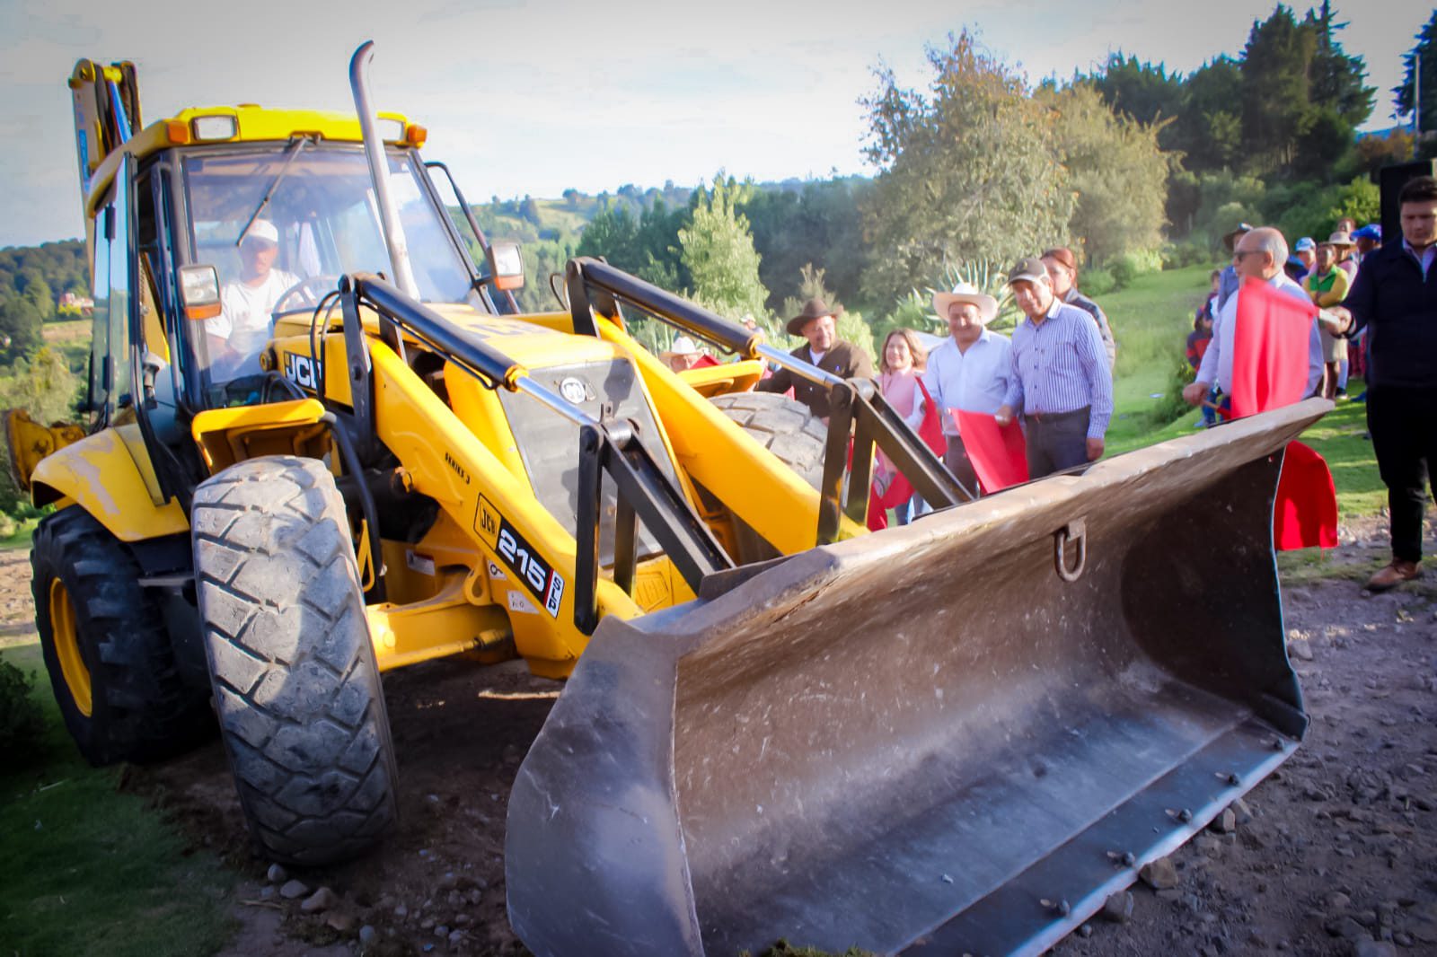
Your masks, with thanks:
[{"label": "small pale-green conifer rising just behind the loader's front arms", "polygon": [[764,320],[769,290],[759,282],[759,253],[753,249],[749,220],[737,204],[752,185],[714,175],[713,188],[700,185],[693,220],[678,230],[681,262],[693,282],[693,299],[714,312]]}]

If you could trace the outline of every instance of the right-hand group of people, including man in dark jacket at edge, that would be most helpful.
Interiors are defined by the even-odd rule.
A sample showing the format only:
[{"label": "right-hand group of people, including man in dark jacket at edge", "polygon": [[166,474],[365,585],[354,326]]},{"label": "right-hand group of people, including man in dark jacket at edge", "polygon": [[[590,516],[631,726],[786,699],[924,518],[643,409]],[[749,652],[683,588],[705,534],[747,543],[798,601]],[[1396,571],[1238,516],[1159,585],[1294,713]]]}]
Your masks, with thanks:
[{"label": "right-hand group of people, including man in dark jacket at edge", "polygon": [[[1362,376],[1368,437],[1388,490],[1392,560],[1368,581],[1387,591],[1421,573],[1427,489],[1437,470],[1437,178],[1410,180],[1398,195],[1403,236],[1382,243],[1377,224],[1339,220],[1325,241],[1240,224],[1226,237],[1233,262],[1213,274],[1194,316],[1187,356],[1196,371],[1183,397],[1203,422],[1230,410],[1233,341],[1243,280],[1267,283],[1321,309],[1312,323],[1305,395],[1336,398]],[[1348,348],[1352,343],[1354,348]]]}]

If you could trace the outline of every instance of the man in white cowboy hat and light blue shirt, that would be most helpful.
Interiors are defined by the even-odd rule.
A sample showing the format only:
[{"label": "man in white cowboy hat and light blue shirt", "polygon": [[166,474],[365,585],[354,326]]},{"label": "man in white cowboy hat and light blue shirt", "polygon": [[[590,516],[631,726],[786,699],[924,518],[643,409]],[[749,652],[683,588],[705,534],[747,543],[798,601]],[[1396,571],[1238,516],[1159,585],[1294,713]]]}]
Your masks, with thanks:
[{"label": "man in white cowboy hat and light blue shirt", "polygon": [[987,329],[997,315],[997,300],[969,283],[958,283],[948,293],[934,293],[933,309],[948,323],[948,338],[928,353],[923,385],[940,410],[943,435],[948,440],[943,463],[954,478],[977,490],[977,474],[951,412],[997,411],[1007,395],[1013,343]]}]

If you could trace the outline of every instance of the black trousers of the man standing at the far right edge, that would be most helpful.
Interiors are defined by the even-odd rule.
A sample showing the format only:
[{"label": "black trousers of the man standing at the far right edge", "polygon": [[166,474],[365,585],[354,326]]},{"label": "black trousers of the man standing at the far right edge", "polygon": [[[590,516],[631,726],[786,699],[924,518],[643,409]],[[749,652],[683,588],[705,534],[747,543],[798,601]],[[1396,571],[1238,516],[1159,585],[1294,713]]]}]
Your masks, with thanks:
[{"label": "black trousers of the man standing at the far right edge", "polygon": [[1423,512],[1437,467],[1437,388],[1368,387],[1367,430],[1387,486],[1392,558],[1421,560]]}]

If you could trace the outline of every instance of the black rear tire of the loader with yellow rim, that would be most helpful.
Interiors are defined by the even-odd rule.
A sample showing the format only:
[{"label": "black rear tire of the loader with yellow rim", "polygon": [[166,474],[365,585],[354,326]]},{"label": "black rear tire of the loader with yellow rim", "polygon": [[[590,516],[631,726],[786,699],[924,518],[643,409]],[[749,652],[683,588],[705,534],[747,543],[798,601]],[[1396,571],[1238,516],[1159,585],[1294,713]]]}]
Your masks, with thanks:
[{"label": "black rear tire of the loader with yellow rim", "polygon": [[187,685],[139,563],[72,506],[34,530],[30,591],[65,727],[91,764],[154,762],[214,734],[210,695]]}]

